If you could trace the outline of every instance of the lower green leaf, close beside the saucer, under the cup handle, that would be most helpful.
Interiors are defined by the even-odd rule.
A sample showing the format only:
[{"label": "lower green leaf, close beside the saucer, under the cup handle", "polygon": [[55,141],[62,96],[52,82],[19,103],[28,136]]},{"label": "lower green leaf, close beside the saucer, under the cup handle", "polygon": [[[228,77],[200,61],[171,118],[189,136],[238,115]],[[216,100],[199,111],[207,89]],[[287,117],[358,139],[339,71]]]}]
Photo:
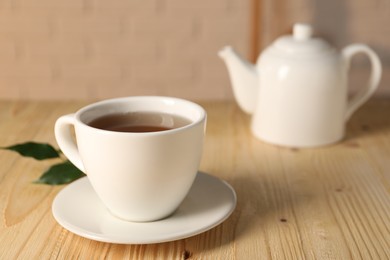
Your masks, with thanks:
[{"label": "lower green leaf, close beside the saucer, under the cup handle", "polygon": [[71,162],[66,161],[51,166],[34,183],[60,185],[70,183],[84,176],[85,174],[82,171],[76,168]]}]

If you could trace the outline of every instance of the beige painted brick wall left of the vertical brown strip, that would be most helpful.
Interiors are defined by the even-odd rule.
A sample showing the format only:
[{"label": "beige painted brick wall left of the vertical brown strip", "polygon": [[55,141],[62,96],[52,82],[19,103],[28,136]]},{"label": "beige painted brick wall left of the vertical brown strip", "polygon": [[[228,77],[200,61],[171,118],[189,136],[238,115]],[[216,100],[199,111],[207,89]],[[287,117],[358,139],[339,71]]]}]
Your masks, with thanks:
[{"label": "beige painted brick wall left of the vertical brown strip", "polygon": [[0,1],[0,98],[231,97],[216,53],[248,53],[250,0]]}]

